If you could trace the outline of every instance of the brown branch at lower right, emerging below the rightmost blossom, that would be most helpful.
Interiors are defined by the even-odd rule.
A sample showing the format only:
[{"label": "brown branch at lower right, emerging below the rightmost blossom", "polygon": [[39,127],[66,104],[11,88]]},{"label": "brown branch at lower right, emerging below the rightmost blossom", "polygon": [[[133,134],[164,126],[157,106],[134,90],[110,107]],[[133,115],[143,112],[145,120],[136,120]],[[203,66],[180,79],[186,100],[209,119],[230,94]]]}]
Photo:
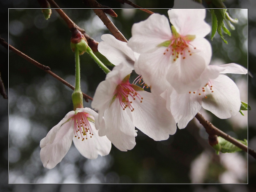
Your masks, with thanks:
[{"label": "brown branch at lower right, emerging below the rightmost blossom", "polygon": [[[215,135],[218,135],[222,137],[223,139],[229,141],[230,143],[233,143],[236,145],[236,147],[239,147],[240,149],[244,150],[245,152],[249,153],[251,156],[253,156],[256,159],[256,153],[251,148],[248,148],[243,143],[239,142],[235,138],[231,137],[227,133],[219,130],[217,127],[215,127],[211,122],[206,120],[204,116],[202,116],[201,113],[197,113],[196,116],[197,120],[204,126],[205,131],[209,134],[209,137],[213,139]],[[210,141],[212,142],[212,141]]]}]

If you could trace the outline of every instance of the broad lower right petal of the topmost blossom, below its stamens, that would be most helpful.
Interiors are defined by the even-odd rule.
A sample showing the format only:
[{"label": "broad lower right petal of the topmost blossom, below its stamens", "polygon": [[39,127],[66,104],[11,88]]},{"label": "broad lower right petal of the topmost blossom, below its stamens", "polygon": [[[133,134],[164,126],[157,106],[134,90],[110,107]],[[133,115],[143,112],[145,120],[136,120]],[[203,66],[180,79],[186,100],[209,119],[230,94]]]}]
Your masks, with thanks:
[{"label": "broad lower right petal of the topmost blossom, below its stamens", "polygon": [[172,63],[166,79],[178,93],[193,91],[200,87],[198,79],[204,69],[204,59],[195,53],[186,59],[178,58]]}]

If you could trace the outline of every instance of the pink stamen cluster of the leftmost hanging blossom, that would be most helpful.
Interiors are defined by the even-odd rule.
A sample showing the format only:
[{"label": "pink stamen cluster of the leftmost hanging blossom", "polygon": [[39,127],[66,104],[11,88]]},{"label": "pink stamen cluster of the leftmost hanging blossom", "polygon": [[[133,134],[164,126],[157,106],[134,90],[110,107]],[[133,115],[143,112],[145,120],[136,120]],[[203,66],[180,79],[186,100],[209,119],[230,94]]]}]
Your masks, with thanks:
[{"label": "pink stamen cluster of the leftmost hanging blossom", "polygon": [[90,125],[88,118],[94,120],[94,117],[89,113],[79,112],[76,115],[74,115],[73,118],[75,137],[77,137],[78,139],[80,139],[81,137],[83,141],[84,138],[87,139],[88,131],[90,137],[92,137],[92,127]]}]

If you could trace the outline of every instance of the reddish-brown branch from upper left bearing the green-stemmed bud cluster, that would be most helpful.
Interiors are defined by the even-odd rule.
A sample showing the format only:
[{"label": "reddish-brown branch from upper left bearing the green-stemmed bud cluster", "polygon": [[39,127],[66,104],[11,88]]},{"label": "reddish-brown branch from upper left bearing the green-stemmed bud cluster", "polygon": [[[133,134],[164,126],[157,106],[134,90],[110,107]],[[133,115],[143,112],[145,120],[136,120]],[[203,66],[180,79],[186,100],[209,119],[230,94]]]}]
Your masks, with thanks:
[{"label": "reddish-brown branch from upper left bearing the green-stemmed bud cluster", "polygon": [[53,0],[48,0],[48,2],[51,4],[53,8],[55,8],[55,11],[60,15],[60,17],[67,23],[69,30],[72,28],[76,28],[85,36],[89,47],[91,47],[92,51],[97,52],[98,51],[98,44],[99,42],[95,41],[92,37],[90,37],[88,34],[85,33],[85,30],[80,28],[76,25],[74,21],[72,21],[66,13],[60,9],[58,4],[56,4]]}]

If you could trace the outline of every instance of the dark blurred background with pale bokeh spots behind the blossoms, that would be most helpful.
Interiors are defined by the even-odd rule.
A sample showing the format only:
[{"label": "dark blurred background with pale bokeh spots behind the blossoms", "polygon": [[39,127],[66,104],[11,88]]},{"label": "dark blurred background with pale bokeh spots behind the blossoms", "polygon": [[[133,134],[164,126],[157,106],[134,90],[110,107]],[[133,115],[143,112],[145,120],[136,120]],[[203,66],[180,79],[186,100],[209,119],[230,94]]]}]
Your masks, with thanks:
[{"label": "dark blurred background with pale bokeh spots behind the blossoms", "polygon": [[[56,2],[63,8],[85,8],[82,1],[68,4]],[[16,9],[38,8],[36,1],[2,1],[1,3],[15,8],[9,9],[9,32],[3,30],[1,36],[6,41],[8,39],[9,44],[34,60],[49,66],[54,73],[74,85],[74,53],[69,47],[71,33],[59,15],[52,10],[51,18],[45,20],[40,9]],[[173,1],[168,4],[161,2],[156,4],[155,1],[137,0],[135,3],[144,7],[173,6]],[[228,8],[246,7],[241,1],[229,0],[225,4]],[[115,1],[105,5],[131,8]],[[167,16],[168,9],[150,10]],[[96,41],[101,41],[102,34],[110,33],[91,9],[63,9],[63,11]],[[127,39],[131,37],[132,24],[149,16],[135,9],[114,9],[114,11],[118,17],[110,17],[110,19]],[[217,34],[213,41],[209,36],[206,37],[212,44],[211,64],[235,62],[247,68],[247,62],[249,61],[250,64],[256,56],[253,47],[256,39],[255,15],[249,12],[247,17],[247,9],[229,9],[228,12],[239,22],[235,24],[236,30],[231,31],[231,37],[225,36],[228,44],[222,42]],[[206,21],[211,23],[209,12]],[[249,32],[248,26],[251,29]],[[2,46],[0,49],[6,53]],[[82,91],[93,96],[97,85],[104,80],[105,74],[88,55],[84,54],[80,59]],[[1,65],[1,75],[4,84],[7,85],[7,76],[2,73],[6,67],[2,68],[3,65]],[[255,76],[255,66],[250,65],[249,70]],[[241,100],[247,102],[249,97],[252,111],[249,112],[248,129],[247,112],[244,112],[245,116],[238,114],[227,120],[220,120],[205,111],[201,112],[215,126],[231,136],[241,140],[248,138],[249,146],[255,149],[256,129],[253,109],[256,108],[256,95],[252,91],[256,86],[255,78],[249,77],[247,82],[247,76],[230,75],[230,77],[240,89]],[[45,169],[39,157],[39,142],[68,111],[72,110],[71,94],[72,91],[68,87],[52,76],[13,52],[9,52],[9,146],[1,149],[4,155],[1,169],[4,170],[9,160],[9,177],[6,178],[5,169],[0,175],[3,181],[8,179],[9,183],[250,183],[255,180],[255,160],[251,156],[247,157],[245,152],[216,155],[207,143],[208,136],[204,128],[196,120],[192,120],[186,129],[178,129],[175,135],[165,141],[154,141],[138,131],[137,144],[131,151],[121,152],[112,146],[108,156],[99,156],[95,160],[81,156],[72,144],[67,155],[55,168]],[[3,124],[1,139],[8,142],[6,129],[8,102],[2,98],[0,102]],[[90,104],[84,102],[84,107],[91,107]],[[248,175],[247,170],[249,170]],[[97,185],[92,187],[95,191],[102,189]],[[221,189],[209,187],[193,187],[193,190],[249,190],[244,186],[239,188],[226,186]]]}]

